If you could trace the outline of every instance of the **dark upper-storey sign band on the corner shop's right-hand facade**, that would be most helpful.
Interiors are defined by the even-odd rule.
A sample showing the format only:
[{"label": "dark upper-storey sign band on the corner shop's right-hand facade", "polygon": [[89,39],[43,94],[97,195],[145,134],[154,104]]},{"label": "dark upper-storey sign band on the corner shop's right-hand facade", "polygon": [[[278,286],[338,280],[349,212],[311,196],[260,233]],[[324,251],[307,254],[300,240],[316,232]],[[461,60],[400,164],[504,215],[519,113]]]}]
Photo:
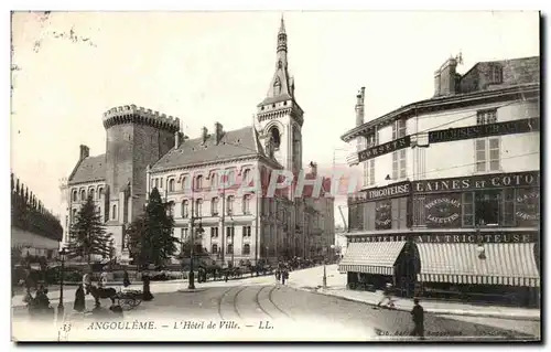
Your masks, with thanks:
[{"label": "dark upper-storey sign band on the corner shop's right-hand facade", "polygon": [[491,136],[527,134],[540,130],[539,118],[525,118],[512,121],[441,129],[429,132],[429,143],[474,139]]}]

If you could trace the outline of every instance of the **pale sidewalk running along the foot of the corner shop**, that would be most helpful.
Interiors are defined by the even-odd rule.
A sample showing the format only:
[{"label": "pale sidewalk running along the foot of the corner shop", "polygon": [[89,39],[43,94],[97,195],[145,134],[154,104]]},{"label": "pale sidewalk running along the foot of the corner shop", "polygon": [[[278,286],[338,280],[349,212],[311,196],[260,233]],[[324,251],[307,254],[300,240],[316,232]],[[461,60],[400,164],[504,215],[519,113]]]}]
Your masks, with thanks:
[{"label": "pale sidewalk running along the foot of the corner shop", "polygon": [[[363,302],[367,305],[377,305],[382,298],[381,291],[355,291],[346,288],[346,275],[338,273],[337,265],[327,265],[327,288],[323,289],[323,266],[310,268],[300,271],[293,271],[290,275],[289,286],[315,294],[339,297],[346,300]],[[395,301],[398,310],[411,311],[413,300],[408,298],[398,298]],[[482,306],[461,302],[446,302],[436,300],[421,301],[426,312],[445,316],[467,316],[486,317],[511,320],[540,320],[540,310],[530,308]]]}]

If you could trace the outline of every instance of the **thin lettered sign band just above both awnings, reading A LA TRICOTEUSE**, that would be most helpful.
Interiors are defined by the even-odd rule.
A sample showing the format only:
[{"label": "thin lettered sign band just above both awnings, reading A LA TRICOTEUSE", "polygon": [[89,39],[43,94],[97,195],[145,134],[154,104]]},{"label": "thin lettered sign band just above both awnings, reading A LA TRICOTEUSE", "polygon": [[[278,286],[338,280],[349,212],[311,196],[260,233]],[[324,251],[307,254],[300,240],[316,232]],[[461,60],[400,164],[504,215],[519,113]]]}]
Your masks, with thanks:
[{"label": "thin lettered sign band just above both awnings, reading A LA TRICOTEUSE", "polygon": [[537,234],[533,233],[439,233],[439,234],[408,234],[408,235],[371,235],[350,236],[350,242],[404,242],[412,238],[415,243],[533,243],[537,242]]}]

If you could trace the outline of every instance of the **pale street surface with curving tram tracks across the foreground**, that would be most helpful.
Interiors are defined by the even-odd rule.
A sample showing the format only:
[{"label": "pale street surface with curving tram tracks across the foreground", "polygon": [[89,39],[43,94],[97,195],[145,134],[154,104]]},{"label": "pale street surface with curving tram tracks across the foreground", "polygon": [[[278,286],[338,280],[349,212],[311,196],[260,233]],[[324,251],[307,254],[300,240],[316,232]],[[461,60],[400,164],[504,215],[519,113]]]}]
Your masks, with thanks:
[{"label": "pale street surface with curving tram tracks across the foreground", "polygon": [[[74,317],[71,321],[75,328],[67,339],[91,341],[411,339],[409,332],[412,323],[409,312],[375,309],[365,303],[315,295],[282,285],[229,284],[231,282],[198,287],[195,291],[182,288],[175,292],[153,292],[155,296],[153,301],[142,302],[136,309],[125,312],[123,321],[138,323],[139,329],[114,328],[115,326],[110,329],[90,328],[91,320],[82,321]],[[108,305],[108,301],[105,300],[104,305]],[[24,318],[18,321],[22,329]],[[148,321],[155,326],[154,332],[144,331],[148,329],[142,323]],[[212,329],[208,328],[209,322]],[[428,340],[539,339],[539,324],[518,323],[526,324],[522,332],[506,329],[506,326],[504,329],[468,319],[451,319],[426,313],[424,327]]]}]

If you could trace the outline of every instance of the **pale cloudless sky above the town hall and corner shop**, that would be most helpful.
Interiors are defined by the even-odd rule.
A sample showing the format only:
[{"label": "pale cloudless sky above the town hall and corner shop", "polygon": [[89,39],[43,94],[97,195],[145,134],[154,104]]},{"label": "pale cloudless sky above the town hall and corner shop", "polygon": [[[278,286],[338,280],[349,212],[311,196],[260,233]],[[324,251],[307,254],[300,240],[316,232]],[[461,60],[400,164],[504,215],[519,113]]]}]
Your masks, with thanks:
[{"label": "pale cloudless sky above the town hall and corner shop", "polygon": [[[303,163],[346,168],[341,136],[433,95],[460,52],[482,61],[539,55],[537,12],[17,12],[12,18],[11,170],[54,213],[79,145],[105,152],[102,113],[136,104],[184,134],[252,124],[276,67],[283,14],[289,68],[304,110]],[[72,34],[73,33],[73,34]],[[335,213],[336,223],[342,223]]]}]

